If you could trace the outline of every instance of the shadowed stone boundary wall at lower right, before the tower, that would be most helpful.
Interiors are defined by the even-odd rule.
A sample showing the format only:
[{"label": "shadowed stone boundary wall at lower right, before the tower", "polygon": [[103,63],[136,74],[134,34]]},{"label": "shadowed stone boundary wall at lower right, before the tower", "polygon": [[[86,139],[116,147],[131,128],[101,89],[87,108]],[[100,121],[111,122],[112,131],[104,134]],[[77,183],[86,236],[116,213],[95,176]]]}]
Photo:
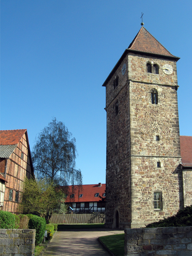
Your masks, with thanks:
[{"label": "shadowed stone boundary wall at lower right, before the tower", "polygon": [[192,256],[192,227],[125,229],[125,256]]}]

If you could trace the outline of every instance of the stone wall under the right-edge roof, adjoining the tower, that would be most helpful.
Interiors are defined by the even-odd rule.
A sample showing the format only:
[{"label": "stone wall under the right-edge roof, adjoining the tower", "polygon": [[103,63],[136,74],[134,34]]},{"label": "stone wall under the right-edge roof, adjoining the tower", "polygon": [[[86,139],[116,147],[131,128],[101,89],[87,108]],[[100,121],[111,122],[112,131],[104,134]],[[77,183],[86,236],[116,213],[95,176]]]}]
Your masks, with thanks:
[{"label": "stone wall under the right-edge roof, adjoining the tower", "polygon": [[183,169],[184,207],[192,204],[192,169]]}]

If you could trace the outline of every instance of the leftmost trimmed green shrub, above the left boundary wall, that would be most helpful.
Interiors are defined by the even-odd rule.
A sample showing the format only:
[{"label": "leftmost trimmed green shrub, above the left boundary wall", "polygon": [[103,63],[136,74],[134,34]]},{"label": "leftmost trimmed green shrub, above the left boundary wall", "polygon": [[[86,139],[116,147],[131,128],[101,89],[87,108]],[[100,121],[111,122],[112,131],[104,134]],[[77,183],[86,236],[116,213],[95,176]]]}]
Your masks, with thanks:
[{"label": "leftmost trimmed green shrub, above the left boundary wall", "polygon": [[0,229],[14,229],[15,215],[9,211],[0,211]]}]

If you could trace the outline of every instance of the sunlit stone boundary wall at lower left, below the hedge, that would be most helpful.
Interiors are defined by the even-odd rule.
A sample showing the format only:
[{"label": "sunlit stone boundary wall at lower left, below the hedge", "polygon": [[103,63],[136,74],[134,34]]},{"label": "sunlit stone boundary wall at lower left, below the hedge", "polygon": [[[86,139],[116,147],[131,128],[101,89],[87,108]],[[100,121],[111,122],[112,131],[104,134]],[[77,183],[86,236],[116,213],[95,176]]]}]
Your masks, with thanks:
[{"label": "sunlit stone boundary wall at lower left, below the hedge", "polygon": [[35,255],[35,229],[0,229],[0,256]]}]

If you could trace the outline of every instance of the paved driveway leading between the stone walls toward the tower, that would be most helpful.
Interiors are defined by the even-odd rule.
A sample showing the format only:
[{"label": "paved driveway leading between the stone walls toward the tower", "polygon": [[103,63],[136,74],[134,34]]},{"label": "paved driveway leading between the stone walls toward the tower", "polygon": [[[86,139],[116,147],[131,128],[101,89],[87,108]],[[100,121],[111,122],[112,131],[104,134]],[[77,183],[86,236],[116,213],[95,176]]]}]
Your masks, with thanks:
[{"label": "paved driveway leading between the stone walls toward the tower", "polygon": [[98,237],[124,233],[123,230],[110,229],[69,229],[57,231],[43,256],[108,256]]}]

